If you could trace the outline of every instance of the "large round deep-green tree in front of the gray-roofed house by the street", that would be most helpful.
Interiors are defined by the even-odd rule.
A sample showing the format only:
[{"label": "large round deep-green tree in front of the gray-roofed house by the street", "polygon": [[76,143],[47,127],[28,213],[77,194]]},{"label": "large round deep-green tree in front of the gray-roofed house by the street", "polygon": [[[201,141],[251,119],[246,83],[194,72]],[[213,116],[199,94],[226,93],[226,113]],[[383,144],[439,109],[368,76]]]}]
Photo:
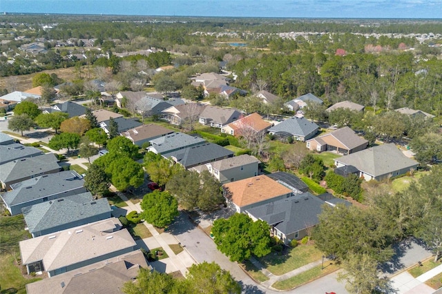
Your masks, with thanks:
[{"label": "large round deep-green tree in front of the gray-roofed house by the street", "polygon": [[253,220],[242,213],[213,222],[212,233],[219,251],[232,262],[243,262],[251,255],[265,256],[271,252],[270,228],[267,222]]}]

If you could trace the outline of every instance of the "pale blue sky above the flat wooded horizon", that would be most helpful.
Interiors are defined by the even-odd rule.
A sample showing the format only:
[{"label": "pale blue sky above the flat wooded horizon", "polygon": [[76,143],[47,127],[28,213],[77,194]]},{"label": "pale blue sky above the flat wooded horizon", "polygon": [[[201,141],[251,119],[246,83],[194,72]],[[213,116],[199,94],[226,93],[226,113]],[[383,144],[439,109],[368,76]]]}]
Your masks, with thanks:
[{"label": "pale blue sky above the flat wooded horizon", "polygon": [[440,19],[442,0],[0,0],[0,12]]}]

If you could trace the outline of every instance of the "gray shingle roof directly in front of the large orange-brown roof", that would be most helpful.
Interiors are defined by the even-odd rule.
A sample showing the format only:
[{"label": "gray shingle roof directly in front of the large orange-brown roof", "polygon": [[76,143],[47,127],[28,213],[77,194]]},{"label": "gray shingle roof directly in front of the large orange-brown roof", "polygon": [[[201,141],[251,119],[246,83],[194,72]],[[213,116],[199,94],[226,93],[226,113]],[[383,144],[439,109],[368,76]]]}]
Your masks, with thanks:
[{"label": "gray shingle roof directly in front of the large orange-brown roof", "polygon": [[250,208],[247,212],[289,235],[318,224],[323,204],[323,200],[307,192]]}]

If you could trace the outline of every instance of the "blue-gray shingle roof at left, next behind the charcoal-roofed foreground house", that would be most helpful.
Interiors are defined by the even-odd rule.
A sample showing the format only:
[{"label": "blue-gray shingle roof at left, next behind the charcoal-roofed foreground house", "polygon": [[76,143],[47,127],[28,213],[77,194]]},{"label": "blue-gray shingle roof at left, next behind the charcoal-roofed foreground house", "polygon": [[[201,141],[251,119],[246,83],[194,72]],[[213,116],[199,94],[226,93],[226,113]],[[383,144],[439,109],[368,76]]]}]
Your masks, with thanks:
[{"label": "blue-gray shingle roof at left, next behind the charcoal-roofed foreground house", "polygon": [[8,206],[81,188],[84,186],[84,180],[77,173],[66,170],[61,173],[52,173],[27,179],[11,186],[12,191],[5,193],[2,197],[8,203]]}]

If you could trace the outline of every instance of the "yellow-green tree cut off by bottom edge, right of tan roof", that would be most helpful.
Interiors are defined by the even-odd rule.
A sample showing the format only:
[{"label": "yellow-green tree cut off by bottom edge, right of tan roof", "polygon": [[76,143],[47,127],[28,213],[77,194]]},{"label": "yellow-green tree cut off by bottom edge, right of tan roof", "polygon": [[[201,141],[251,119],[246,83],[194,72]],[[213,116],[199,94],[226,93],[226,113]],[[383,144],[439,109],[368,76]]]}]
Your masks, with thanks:
[{"label": "yellow-green tree cut off by bottom edge, right of tan roof", "polygon": [[241,293],[241,286],[233,279],[229,271],[223,270],[215,262],[192,264],[184,280],[186,293]]}]

